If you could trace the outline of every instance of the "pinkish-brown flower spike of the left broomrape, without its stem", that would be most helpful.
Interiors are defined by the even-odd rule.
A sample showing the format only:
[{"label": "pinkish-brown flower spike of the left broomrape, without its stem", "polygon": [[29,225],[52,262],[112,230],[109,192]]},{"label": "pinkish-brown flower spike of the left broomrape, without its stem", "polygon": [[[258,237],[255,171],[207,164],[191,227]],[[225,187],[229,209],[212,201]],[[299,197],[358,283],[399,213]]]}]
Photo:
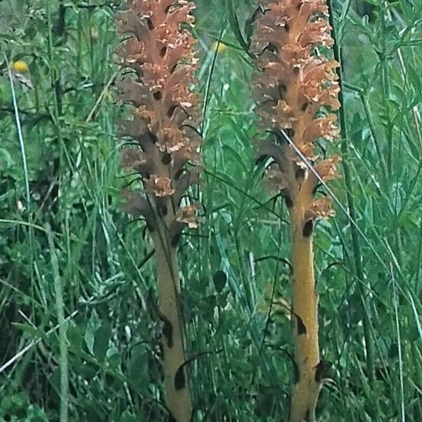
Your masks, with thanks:
[{"label": "pinkish-brown flower spike of the left broomrape, without its stem", "polygon": [[185,0],[129,0],[119,16],[120,31],[130,34],[118,51],[121,65],[134,70],[118,84],[122,103],[133,106],[120,136],[136,141],[122,150],[122,166],[138,172],[144,186],[124,193],[126,208],[151,230],[162,219],[170,236],[197,219],[197,205],[180,207],[200,174],[198,97],[190,89],[198,60],[186,30],[193,8]]}]

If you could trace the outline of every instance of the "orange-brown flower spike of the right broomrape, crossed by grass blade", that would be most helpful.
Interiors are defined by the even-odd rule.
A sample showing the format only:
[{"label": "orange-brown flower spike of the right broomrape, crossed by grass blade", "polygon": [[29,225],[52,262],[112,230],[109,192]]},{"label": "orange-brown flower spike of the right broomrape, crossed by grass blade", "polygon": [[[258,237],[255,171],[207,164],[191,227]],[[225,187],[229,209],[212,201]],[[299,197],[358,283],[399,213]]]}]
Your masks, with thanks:
[{"label": "orange-brown flower spike of the right broomrape, crossed by grass blade", "polygon": [[[340,158],[320,160],[316,141],[333,141],[339,135],[333,111],[338,110],[338,63],[317,49],[333,44],[323,0],[261,1],[264,13],[255,22],[252,48],[262,72],[255,77],[255,99],[260,126],[270,129],[275,142],[260,141],[259,158],[274,162],[267,170],[269,184],[283,192],[293,206],[298,191],[314,193],[319,181],[286,143],[281,131],[314,165],[324,181],[335,177]],[[328,199],[309,204],[307,215],[333,214]]]}]

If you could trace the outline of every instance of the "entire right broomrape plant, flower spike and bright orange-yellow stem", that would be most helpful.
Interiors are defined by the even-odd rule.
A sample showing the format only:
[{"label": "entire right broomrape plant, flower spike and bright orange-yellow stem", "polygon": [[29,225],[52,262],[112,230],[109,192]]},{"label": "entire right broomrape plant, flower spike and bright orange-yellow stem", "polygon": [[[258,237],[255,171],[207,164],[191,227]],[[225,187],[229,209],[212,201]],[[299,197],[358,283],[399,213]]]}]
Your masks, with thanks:
[{"label": "entire right broomrape plant, flower spike and bright orange-yellow stem", "polygon": [[312,232],[316,219],[333,215],[331,200],[316,198],[321,181],[314,172],[323,181],[333,179],[340,160],[322,160],[324,149],[316,148],[317,141],[338,136],[333,114],[340,107],[338,63],[324,56],[333,44],[325,0],[260,3],[253,48],[262,72],[256,75],[254,96],[260,125],[271,136],[259,141],[259,158],[272,159],[265,179],[286,200],[292,238],[296,371],[290,421],[314,421],[325,365],[319,356]]}]

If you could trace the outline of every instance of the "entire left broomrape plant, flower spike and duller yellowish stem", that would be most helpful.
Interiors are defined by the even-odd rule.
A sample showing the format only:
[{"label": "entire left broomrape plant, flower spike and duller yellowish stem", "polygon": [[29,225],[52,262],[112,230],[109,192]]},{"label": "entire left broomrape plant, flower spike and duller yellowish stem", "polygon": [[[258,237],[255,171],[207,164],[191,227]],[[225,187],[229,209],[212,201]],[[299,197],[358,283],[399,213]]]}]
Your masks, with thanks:
[{"label": "entire left broomrape plant, flower spike and duller yellowish stem", "polygon": [[122,101],[133,106],[120,134],[134,140],[122,150],[122,166],[142,181],[139,192],[124,196],[128,212],[145,219],[155,246],[165,396],[177,422],[192,417],[177,248],[181,231],[198,224],[199,205],[186,198],[200,174],[198,97],[191,91],[198,60],[187,30],[193,8],[185,0],[130,0],[119,17],[120,30],[131,34],[119,56],[134,70],[120,82]]}]

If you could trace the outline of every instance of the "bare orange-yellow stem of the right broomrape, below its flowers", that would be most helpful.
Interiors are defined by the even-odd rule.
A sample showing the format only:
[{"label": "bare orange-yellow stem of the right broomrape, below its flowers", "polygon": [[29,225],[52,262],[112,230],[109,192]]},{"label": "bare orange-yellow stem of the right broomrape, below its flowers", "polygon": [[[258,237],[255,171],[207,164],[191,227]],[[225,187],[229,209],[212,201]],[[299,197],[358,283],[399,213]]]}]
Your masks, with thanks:
[{"label": "bare orange-yellow stem of the right broomrape, below its flowers", "polygon": [[[305,211],[312,193],[302,185],[290,210],[292,226],[292,267],[295,363],[297,376],[292,388],[290,422],[315,421],[321,384],[316,380],[319,364],[318,295],[315,290],[312,229],[306,233]],[[311,223],[312,224],[312,223]],[[304,233],[305,229],[305,233]],[[309,227],[307,227],[309,229]]]}]

